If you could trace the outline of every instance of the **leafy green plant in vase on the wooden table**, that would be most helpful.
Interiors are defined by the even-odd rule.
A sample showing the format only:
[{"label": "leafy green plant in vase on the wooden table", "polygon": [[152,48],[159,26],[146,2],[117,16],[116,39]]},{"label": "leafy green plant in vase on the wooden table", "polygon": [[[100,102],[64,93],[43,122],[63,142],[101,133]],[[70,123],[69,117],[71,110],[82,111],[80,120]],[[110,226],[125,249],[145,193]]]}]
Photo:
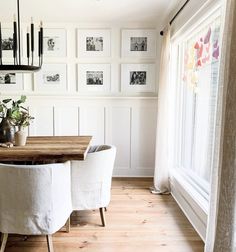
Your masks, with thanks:
[{"label": "leafy green plant in vase on the wooden table", "polygon": [[[29,126],[30,122],[34,119],[29,115],[28,109],[22,106],[22,103],[24,103],[25,101],[26,96],[22,95],[19,100],[14,101],[12,99],[5,99],[0,103],[0,113],[1,117],[3,118],[2,122],[7,121],[7,123],[13,127],[13,131],[11,130],[11,139],[5,139],[7,140],[5,142],[13,142],[15,140],[15,145],[17,146],[25,145],[27,135],[24,129],[25,127]],[[10,102],[11,107],[9,108]],[[2,132],[4,132],[4,130],[2,130]],[[12,134],[14,134],[14,137],[12,137]]]}]

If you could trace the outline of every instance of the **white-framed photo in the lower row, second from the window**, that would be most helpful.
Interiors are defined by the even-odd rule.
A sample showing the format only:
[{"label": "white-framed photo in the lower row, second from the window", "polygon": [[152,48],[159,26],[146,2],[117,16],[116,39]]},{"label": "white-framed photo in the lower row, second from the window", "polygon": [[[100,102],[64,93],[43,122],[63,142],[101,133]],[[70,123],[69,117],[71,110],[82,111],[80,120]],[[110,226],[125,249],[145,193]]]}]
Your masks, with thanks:
[{"label": "white-framed photo in the lower row, second from the window", "polygon": [[78,91],[110,91],[110,64],[78,64]]}]

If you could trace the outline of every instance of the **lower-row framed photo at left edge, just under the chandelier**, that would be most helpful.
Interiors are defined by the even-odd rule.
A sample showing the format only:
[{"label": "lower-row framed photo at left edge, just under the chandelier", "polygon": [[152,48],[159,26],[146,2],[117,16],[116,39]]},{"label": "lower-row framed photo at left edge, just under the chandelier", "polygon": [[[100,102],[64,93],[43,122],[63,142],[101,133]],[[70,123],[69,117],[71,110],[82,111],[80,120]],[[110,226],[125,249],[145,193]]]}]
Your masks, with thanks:
[{"label": "lower-row framed photo at left edge, just under the chandelier", "polygon": [[0,73],[0,90],[23,90],[23,75],[20,73]]}]

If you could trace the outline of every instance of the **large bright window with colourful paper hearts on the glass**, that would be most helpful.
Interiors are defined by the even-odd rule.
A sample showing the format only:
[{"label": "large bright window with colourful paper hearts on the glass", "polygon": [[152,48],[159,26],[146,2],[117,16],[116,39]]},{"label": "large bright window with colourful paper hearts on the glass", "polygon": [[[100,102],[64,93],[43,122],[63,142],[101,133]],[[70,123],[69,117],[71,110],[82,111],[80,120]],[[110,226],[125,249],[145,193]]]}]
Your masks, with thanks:
[{"label": "large bright window with colourful paper hearts on the glass", "polygon": [[220,54],[220,12],[208,15],[177,42],[176,165],[207,190],[213,158]]}]

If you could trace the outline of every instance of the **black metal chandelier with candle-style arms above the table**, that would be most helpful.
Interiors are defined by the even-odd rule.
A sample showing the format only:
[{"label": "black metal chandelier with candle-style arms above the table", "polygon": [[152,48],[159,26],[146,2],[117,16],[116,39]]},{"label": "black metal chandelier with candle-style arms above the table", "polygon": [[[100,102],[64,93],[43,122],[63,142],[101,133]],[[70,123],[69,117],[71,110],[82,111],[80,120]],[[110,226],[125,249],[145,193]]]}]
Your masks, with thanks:
[{"label": "black metal chandelier with candle-style arms above the table", "polygon": [[27,64],[22,64],[21,61],[21,27],[20,27],[20,3],[17,0],[17,21],[14,15],[13,21],[13,64],[5,65],[2,62],[2,29],[0,23],[0,72],[36,72],[41,69],[43,64],[43,25],[40,22],[40,27],[38,31],[38,65],[34,65],[34,23],[31,18],[30,33],[27,29],[26,33],[26,46],[27,46]]}]

